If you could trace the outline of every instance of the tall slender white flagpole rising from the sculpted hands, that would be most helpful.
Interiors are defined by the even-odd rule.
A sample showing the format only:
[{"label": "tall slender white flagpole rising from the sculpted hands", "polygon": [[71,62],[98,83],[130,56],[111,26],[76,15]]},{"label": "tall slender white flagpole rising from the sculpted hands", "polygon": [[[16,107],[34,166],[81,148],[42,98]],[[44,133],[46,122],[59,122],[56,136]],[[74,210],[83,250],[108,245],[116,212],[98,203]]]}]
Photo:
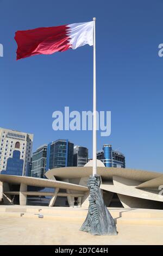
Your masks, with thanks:
[{"label": "tall slender white flagpole rising from the sculpted hands", "polygon": [[97,174],[96,145],[96,18],[93,18],[93,176]]}]

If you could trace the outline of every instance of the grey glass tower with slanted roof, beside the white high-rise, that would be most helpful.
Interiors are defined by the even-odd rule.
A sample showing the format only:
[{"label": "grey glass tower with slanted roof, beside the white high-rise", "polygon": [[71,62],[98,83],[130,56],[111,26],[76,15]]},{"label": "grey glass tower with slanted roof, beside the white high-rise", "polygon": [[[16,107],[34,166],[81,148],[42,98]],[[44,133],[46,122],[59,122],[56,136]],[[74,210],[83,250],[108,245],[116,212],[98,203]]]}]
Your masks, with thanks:
[{"label": "grey glass tower with slanted roof, beside the white high-rise", "polygon": [[32,154],[32,166],[30,176],[36,178],[44,178],[46,171],[47,144],[37,148]]}]

